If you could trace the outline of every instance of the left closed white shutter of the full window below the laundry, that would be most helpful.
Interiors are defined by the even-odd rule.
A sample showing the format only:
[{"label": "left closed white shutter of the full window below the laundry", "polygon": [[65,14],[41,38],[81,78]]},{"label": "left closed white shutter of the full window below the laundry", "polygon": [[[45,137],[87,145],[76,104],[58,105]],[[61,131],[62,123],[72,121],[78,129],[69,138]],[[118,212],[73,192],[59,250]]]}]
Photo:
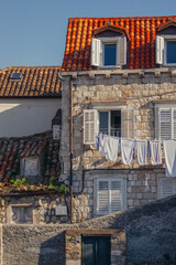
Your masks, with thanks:
[{"label": "left closed white shutter of the full window below the laundry", "polygon": [[97,186],[97,214],[103,215],[109,213],[109,181],[99,180]]}]

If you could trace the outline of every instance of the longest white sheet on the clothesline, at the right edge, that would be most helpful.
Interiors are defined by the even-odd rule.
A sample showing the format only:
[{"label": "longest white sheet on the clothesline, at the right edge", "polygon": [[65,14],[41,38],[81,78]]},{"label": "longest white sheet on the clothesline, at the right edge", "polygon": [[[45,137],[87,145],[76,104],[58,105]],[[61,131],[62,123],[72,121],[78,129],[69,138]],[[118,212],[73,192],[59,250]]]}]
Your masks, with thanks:
[{"label": "longest white sheet on the clothesline, at the right edge", "polygon": [[166,177],[176,177],[176,140],[164,140]]}]

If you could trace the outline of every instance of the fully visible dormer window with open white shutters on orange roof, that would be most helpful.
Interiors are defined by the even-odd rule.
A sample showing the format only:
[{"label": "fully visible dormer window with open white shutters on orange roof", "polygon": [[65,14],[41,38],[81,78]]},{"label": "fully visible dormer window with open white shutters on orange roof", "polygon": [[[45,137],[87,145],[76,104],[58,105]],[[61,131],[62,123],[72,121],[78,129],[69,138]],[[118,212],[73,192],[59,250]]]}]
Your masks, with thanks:
[{"label": "fully visible dormer window with open white shutters on orange roof", "polygon": [[114,67],[127,64],[127,38],[91,39],[91,65]]}]

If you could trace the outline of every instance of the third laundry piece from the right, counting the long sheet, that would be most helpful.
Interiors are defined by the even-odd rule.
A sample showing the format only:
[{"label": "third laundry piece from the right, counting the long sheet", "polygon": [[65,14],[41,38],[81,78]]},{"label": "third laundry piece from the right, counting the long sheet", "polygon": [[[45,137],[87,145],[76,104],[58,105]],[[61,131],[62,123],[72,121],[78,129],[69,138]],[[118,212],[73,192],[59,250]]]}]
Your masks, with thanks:
[{"label": "third laundry piece from the right, counting the long sheet", "polygon": [[147,163],[147,140],[136,140],[136,159],[140,166]]}]

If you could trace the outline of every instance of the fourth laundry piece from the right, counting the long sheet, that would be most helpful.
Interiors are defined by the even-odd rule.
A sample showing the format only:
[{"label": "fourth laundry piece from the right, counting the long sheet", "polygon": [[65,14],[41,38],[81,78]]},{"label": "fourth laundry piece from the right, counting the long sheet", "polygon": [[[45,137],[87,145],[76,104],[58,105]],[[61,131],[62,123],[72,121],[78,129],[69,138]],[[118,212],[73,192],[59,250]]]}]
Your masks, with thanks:
[{"label": "fourth laundry piece from the right, counting the long sheet", "polygon": [[133,161],[134,140],[121,138],[122,163],[131,165]]}]

